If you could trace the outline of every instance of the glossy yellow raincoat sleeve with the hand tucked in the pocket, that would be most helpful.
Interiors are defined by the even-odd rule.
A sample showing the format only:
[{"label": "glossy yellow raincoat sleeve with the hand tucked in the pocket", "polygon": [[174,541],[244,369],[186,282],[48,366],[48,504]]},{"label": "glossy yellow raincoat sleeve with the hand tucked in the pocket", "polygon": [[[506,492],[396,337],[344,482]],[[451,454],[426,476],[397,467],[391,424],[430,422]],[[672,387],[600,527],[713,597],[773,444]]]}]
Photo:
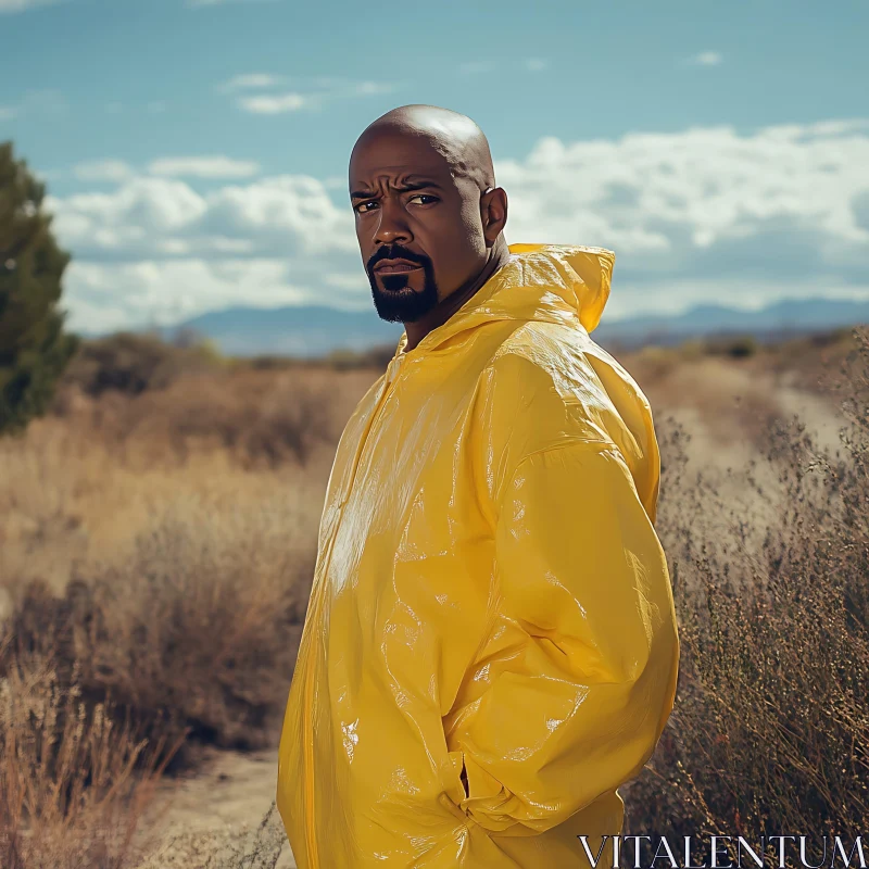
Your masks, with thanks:
[{"label": "glossy yellow raincoat sleeve with the hand tucked in the pocket", "polygon": [[524,458],[495,531],[496,600],[449,722],[459,807],[533,835],[639,772],[676,693],[667,562],[615,444]]}]

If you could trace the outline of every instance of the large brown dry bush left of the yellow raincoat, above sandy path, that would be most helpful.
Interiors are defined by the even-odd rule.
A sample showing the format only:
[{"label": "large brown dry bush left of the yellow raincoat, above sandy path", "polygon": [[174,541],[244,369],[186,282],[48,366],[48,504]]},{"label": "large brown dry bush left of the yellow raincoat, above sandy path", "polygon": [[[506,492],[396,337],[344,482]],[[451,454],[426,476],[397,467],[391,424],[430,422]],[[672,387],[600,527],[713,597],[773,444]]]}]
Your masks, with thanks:
[{"label": "large brown dry bush left of the yellow raincoat, above sandy path", "polygon": [[292,676],[313,553],[267,518],[243,540],[226,518],[194,517],[166,513],[124,562],[79,568],[62,596],[27,583],[9,629],[54,654],[65,684],[75,667],[87,697],[113,697],[142,728],[260,747]]}]

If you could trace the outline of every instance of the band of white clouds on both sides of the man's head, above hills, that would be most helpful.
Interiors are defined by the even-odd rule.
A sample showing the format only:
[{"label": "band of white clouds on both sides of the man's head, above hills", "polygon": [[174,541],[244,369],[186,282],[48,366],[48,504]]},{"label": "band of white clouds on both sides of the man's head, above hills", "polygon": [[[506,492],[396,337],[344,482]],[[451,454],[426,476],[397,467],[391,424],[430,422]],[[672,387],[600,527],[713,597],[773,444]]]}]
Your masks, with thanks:
[{"label": "band of white clouds on both sides of the man's head, above hills", "polygon": [[[610,319],[698,302],[869,297],[869,121],[544,138],[495,172],[508,241],[616,251]],[[185,316],[252,300],[370,301],[345,193],[333,201],[311,177],[201,193],[135,175],[47,207],[74,254],[64,295],[74,328],[139,325],[144,311],[168,322],[179,293]]]}]

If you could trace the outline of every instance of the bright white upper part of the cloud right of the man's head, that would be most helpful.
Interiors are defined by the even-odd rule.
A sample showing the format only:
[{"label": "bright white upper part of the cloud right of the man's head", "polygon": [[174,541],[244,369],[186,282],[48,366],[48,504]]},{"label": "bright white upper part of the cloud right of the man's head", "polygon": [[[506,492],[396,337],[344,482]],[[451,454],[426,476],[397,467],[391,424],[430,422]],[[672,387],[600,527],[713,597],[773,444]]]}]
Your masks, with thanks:
[{"label": "bright white upper part of the cloud right of the man's head", "polygon": [[545,138],[496,172],[514,232],[543,230],[558,241],[591,232],[594,243],[673,256],[780,226],[808,228],[821,244],[858,244],[869,231],[852,201],[869,190],[869,136],[854,129],[852,122],[747,136],[717,127],[571,144]]}]

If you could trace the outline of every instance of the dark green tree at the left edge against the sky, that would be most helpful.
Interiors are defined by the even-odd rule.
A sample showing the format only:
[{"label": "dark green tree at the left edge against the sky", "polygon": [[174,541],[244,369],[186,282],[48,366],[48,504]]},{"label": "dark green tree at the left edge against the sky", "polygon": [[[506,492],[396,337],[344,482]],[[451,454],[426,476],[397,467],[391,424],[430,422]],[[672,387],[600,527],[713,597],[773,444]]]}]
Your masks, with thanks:
[{"label": "dark green tree at the left edge against the sky", "polygon": [[41,210],[45,185],[0,142],[0,434],[41,416],[78,338],[56,305],[70,263]]}]

